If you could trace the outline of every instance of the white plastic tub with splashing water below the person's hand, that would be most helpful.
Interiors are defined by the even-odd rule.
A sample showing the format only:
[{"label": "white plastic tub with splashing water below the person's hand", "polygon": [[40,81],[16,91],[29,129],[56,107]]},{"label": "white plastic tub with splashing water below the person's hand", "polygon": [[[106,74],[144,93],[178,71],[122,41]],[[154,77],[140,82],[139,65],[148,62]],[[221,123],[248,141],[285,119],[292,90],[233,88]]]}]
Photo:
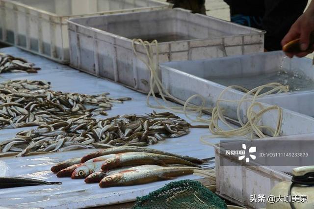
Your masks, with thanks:
[{"label": "white plastic tub with splashing water below the person's hand", "polygon": [[[201,94],[213,106],[226,86],[210,81],[209,77],[241,77],[276,72],[280,69],[288,73],[301,72],[314,80],[314,67],[308,58],[284,58],[283,52],[265,52],[243,56],[231,56],[197,61],[169,62],[160,65],[162,82],[175,97],[186,100],[193,94]],[[239,100],[244,93],[227,91],[224,99]],[[275,104],[292,111],[314,116],[314,90],[272,94],[259,99],[260,102]],[[226,114],[235,118],[235,103],[221,103]]]}]

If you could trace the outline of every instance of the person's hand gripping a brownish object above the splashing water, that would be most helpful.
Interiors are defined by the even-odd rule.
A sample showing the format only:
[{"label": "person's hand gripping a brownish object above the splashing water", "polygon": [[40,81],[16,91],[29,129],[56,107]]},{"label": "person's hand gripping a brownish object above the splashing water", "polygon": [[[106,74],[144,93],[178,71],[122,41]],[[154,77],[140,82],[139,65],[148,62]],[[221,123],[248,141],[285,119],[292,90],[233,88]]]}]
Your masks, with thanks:
[{"label": "person's hand gripping a brownish object above the splashing water", "polygon": [[[314,31],[314,0],[311,1],[307,10],[295,21],[291,26],[289,32],[281,41],[281,45],[284,46],[288,42],[300,38],[300,48],[304,52],[299,53],[286,53],[290,58],[293,55],[298,57],[306,56],[312,53],[313,50],[308,50],[310,44],[310,34]],[[312,48],[312,47],[311,47]]]}]

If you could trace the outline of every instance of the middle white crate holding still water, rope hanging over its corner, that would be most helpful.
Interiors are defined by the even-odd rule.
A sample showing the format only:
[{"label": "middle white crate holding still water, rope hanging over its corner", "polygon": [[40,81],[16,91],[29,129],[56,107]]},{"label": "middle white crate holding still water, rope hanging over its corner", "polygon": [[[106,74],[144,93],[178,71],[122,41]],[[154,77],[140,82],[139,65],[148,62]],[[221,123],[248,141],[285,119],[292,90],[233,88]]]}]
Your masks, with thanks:
[{"label": "middle white crate holding still water, rope hanging over its corner", "polygon": [[[159,62],[262,52],[264,32],[187,10],[157,10],[70,19],[71,66],[149,91],[150,72],[132,39],[157,39]],[[136,44],[138,56],[147,60]]]}]

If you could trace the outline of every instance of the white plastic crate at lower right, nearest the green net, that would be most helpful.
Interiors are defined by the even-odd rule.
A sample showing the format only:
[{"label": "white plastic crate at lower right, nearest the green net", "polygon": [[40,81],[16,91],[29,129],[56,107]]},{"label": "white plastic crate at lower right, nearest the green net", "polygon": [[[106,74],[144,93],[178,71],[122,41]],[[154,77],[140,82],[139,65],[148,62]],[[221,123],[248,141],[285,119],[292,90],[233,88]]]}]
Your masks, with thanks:
[{"label": "white plastic crate at lower right, nearest the green net", "polygon": [[[302,123],[301,123],[302,124]],[[300,124],[300,126],[302,126]],[[269,140],[311,140],[314,134],[302,134],[294,136],[281,136],[276,138],[256,139],[259,141]],[[247,141],[225,142],[216,144],[215,147],[215,164],[216,164],[216,193],[242,207],[249,209],[262,209],[266,207],[265,203],[250,201],[250,195],[263,194],[267,198],[271,189],[282,181],[290,181],[291,176],[285,172],[292,172],[292,169],[298,166],[264,166],[254,163],[254,160],[245,163],[238,160],[236,156],[225,155],[228,147],[235,144],[247,143]],[[258,149],[258,147],[257,147]],[[300,152],[304,150],[301,145],[298,147]],[[281,150],[281,147],[278,147]],[[288,195],[288,190],[287,190]],[[266,199],[267,200],[267,199]]]}]

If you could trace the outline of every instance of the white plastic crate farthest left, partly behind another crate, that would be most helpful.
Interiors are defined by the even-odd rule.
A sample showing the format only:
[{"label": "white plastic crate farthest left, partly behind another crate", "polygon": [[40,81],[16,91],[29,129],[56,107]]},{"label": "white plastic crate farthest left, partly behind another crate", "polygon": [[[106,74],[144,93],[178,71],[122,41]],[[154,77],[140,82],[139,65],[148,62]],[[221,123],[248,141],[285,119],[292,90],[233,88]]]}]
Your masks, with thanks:
[{"label": "white plastic crate farthest left, partly behind another crate", "polygon": [[157,0],[0,0],[0,41],[66,64],[67,19],[170,7]]}]

